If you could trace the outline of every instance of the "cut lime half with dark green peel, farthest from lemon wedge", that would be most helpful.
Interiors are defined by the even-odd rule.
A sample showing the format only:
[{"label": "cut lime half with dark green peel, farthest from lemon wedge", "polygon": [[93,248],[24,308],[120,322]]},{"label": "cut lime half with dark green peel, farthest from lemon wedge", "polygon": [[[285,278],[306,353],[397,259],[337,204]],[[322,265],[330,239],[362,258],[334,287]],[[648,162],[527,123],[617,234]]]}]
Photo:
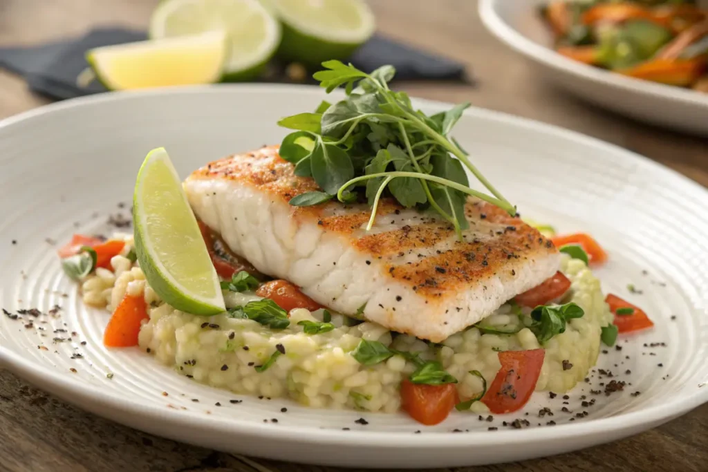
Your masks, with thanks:
[{"label": "cut lime half with dark green peel, farthest from lemon wedge", "polygon": [[270,0],[282,21],[278,55],[311,67],[346,59],[375,30],[374,15],[361,0]]}]

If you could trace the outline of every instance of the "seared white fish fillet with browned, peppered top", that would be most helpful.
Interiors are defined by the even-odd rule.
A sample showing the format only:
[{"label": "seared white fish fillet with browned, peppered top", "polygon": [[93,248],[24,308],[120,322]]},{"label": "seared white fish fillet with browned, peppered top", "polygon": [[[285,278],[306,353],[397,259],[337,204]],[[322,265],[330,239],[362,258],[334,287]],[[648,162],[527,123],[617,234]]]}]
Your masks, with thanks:
[{"label": "seared white fish fillet with browned, peppered top", "polygon": [[292,207],[318,190],[293,174],[278,146],[236,154],[185,180],[195,214],[256,269],[315,301],[438,343],[554,275],[560,255],[520,219],[481,200],[466,207],[464,242],[449,224],[393,201]]}]

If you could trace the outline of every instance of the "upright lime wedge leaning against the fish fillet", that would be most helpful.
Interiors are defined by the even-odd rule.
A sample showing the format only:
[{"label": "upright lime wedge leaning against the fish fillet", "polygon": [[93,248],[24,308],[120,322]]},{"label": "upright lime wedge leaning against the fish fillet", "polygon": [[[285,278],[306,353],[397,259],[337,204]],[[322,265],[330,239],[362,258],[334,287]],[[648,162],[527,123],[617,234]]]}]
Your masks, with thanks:
[{"label": "upright lime wedge leaning against the fish fillet", "polygon": [[137,174],[133,221],[140,268],[161,299],[195,315],[226,311],[197,219],[164,148],[150,151]]}]

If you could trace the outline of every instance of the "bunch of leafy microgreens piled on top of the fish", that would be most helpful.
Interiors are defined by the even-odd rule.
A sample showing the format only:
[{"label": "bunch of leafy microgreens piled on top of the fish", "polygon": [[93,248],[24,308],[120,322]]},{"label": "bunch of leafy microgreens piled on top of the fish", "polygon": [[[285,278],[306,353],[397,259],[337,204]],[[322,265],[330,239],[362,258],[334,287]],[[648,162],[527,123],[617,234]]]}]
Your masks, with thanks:
[{"label": "bunch of leafy microgreens piled on top of the fish", "polygon": [[[366,74],[339,61],[322,65],[325,69],[316,72],[314,79],[327,93],[345,87],[347,98],[334,104],[323,102],[315,113],[299,113],[278,122],[295,130],[283,139],[280,156],[295,164],[295,175],[312,176],[324,191],[298,195],[290,201],[292,205],[318,205],[335,195],[341,202],[353,202],[357,193],[364,194],[372,207],[367,224],[371,229],[381,198],[390,195],[404,207],[430,207],[438,212],[460,240],[468,225],[464,217],[467,195],[516,214],[515,207],[450,137],[469,103],[428,116],[413,109],[406,93],[389,89],[395,74],[391,66]],[[469,188],[465,167],[493,196]]]}]

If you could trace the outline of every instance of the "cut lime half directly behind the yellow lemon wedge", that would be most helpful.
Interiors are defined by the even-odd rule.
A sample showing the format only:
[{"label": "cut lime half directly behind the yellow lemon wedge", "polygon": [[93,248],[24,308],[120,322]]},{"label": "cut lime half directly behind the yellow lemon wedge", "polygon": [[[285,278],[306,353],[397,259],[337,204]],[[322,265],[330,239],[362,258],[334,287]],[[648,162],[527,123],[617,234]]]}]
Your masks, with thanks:
[{"label": "cut lime half directly behind the yellow lemon wedge", "polygon": [[258,0],[163,0],[150,18],[150,38],[225,30],[225,80],[253,79],[280,43],[280,24]]}]

